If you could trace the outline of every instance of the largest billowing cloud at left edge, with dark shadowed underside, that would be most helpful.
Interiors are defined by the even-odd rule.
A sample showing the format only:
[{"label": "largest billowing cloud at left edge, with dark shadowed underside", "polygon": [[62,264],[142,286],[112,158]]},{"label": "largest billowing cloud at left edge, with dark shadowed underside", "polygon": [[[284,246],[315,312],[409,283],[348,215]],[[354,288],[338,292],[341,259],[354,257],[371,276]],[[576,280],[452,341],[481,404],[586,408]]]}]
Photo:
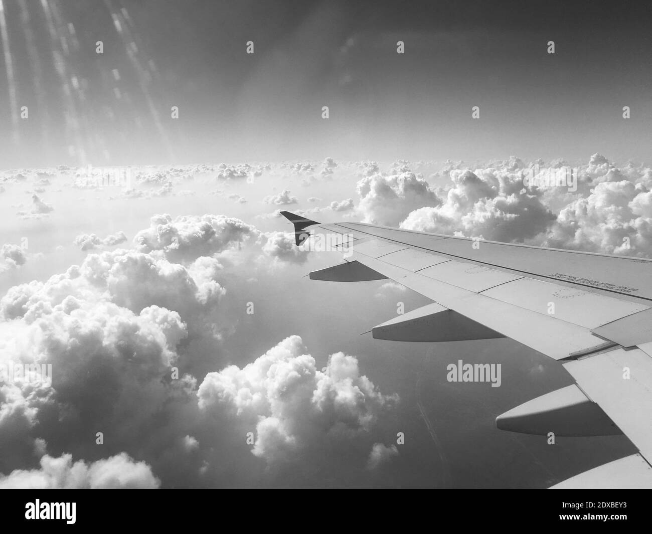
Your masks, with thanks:
[{"label": "largest billowing cloud at left edge, with dark shadowed underside", "polygon": [[58,450],[82,457],[94,441],[74,436],[98,428],[110,436],[110,453],[161,447],[150,434],[156,417],[187,434],[192,419],[171,413],[192,408],[196,381],[174,377],[173,368],[205,368],[219,355],[220,328],[229,327],[218,320],[220,269],[215,258],[181,265],[161,251],[116,250],[9,289],[0,300],[0,359],[52,364],[55,372],[50,387],[0,387],[0,471],[21,466],[24,455],[8,451],[25,450],[37,428]]}]

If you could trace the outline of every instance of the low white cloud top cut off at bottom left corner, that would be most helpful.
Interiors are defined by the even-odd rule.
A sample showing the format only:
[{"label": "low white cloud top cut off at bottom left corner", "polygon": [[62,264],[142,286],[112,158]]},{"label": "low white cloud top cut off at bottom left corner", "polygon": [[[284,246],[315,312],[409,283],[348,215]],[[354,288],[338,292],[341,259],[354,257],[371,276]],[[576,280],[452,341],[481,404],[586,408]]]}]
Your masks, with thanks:
[{"label": "low white cloud top cut off at bottom left corner", "polygon": [[160,481],[145,462],[135,462],[125,452],[87,464],[72,462],[72,454],[44,455],[40,469],[16,469],[0,475],[0,489],[115,489],[158,488]]}]

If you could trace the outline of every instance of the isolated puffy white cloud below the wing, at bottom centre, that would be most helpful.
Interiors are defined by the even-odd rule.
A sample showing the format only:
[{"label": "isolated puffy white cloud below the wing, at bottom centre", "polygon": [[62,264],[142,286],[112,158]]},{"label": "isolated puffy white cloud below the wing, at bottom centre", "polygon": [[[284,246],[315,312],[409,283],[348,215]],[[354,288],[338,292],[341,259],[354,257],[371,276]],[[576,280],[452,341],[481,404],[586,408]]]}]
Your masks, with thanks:
[{"label": "isolated puffy white cloud below the wing, at bottom centre", "polygon": [[361,375],[353,356],[334,353],[318,370],[299,336],[284,339],[243,368],[231,365],[207,374],[197,394],[203,411],[226,411],[255,425],[252,453],[268,463],[355,439],[398,401]]}]

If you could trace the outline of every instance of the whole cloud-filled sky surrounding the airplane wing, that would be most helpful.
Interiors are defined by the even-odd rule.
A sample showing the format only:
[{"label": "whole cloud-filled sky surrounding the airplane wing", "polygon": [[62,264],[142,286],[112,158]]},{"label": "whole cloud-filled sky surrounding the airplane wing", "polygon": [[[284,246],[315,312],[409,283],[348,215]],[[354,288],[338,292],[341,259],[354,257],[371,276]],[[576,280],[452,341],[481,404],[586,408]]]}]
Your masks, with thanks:
[{"label": "whole cloud-filled sky surrounding the airplane wing", "polygon": [[0,0],[0,364],[53,366],[0,383],[0,487],[544,487],[631,454],[497,430],[569,375],[360,335],[429,301],[309,280],[341,257],[280,216],[652,258],[649,14],[501,5]]}]

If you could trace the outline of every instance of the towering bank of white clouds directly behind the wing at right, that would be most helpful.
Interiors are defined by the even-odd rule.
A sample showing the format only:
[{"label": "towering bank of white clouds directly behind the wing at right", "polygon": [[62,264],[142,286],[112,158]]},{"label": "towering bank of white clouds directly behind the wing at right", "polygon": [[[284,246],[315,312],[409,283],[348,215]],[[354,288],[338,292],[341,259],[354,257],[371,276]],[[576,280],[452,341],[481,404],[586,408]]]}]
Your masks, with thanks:
[{"label": "towering bank of white clouds directly behind the wing at right", "polygon": [[[564,170],[567,183],[525,186],[526,173],[540,168]],[[649,167],[617,167],[600,154],[572,169],[561,159],[525,164],[511,156],[475,170],[447,162],[443,175],[449,183],[436,190],[441,203],[415,209],[400,228],[652,256]]]}]

